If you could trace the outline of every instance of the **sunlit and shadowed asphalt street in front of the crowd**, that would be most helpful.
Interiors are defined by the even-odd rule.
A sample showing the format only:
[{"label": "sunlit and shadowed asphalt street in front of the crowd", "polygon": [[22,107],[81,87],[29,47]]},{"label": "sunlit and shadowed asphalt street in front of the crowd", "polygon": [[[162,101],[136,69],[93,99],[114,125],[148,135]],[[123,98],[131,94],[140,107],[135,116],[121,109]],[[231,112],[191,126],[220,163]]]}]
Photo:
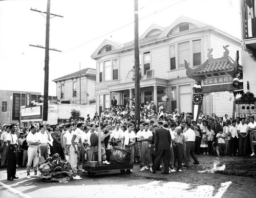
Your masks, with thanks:
[{"label": "sunlit and shadowed asphalt street in front of the crowd", "polygon": [[[120,171],[97,173],[89,177],[79,172],[82,180],[68,183],[44,182],[40,178],[26,179],[26,168],[17,167],[19,179],[7,181],[6,169],[0,169],[0,197],[253,197],[255,181],[250,178],[199,174],[184,169],[170,175],[139,171],[134,165],[131,174]],[[253,187],[254,186],[254,187]],[[244,193],[244,192],[247,193]]]}]

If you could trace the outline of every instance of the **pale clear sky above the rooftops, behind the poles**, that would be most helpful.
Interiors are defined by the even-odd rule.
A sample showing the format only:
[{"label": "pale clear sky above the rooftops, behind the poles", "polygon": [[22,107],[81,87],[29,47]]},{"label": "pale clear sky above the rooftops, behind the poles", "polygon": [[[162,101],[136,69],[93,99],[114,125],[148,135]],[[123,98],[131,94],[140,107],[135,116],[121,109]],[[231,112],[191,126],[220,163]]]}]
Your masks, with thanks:
[{"label": "pale clear sky above the rooftops, behind the poles", "polygon": [[[241,39],[239,0],[138,0],[139,36],[151,24],[167,27],[179,16],[210,24]],[[44,93],[47,0],[0,1],[0,90]],[[52,80],[96,68],[91,55],[104,39],[134,40],[133,0],[51,0],[49,95]]]}]

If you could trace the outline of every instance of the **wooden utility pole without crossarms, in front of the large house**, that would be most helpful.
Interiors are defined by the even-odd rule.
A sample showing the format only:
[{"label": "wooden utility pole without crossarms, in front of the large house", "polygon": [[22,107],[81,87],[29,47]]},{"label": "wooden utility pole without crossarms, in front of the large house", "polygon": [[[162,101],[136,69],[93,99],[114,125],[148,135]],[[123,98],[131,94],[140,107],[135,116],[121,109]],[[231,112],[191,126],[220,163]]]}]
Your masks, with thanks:
[{"label": "wooden utility pole without crossarms, in front of the large house", "polygon": [[139,58],[138,0],[134,0],[134,58],[135,58],[135,122],[140,123],[140,58]]}]

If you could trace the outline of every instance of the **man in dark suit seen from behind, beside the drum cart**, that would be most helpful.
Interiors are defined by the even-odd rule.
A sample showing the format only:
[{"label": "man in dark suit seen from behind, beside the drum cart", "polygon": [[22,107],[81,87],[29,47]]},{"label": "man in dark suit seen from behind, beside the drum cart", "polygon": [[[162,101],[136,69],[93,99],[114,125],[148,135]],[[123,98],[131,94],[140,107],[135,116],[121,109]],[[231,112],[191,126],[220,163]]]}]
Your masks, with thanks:
[{"label": "man in dark suit seen from behind, beside the drum cart", "polygon": [[169,174],[169,154],[170,154],[170,143],[172,141],[172,137],[170,136],[170,132],[167,129],[163,128],[163,122],[158,122],[159,129],[155,131],[155,149],[156,151],[156,159],[153,165],[153,173],[156,173],[157,168],[159,167],[159,162],[163,157],[164,163],[164,171],[162,174]]}]

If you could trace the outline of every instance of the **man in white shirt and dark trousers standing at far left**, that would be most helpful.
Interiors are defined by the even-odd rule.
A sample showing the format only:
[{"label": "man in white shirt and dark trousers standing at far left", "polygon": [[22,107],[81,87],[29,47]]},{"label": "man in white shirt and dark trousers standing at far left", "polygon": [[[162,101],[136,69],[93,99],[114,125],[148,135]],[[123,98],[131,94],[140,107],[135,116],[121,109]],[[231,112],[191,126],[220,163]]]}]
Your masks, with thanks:
[{"label": "man in white shirt and dark trousers standing at far left", "polygon": [[7,136],[8,154],[7,154],[7,180],[13,181],[16,177],[16,152],[17,152],[17,136],[15,134],[16,125],[10,125],[11,133]]}]

